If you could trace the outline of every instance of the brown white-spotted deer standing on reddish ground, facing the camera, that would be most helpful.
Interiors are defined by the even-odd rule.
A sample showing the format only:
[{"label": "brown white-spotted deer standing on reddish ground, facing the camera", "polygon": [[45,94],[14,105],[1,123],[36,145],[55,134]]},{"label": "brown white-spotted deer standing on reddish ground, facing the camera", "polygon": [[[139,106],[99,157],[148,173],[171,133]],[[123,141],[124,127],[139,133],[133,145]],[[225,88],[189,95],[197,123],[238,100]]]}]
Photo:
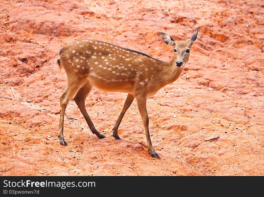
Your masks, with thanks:
[{"label": "brown white-spotted deer standing on reddish ground, facing the camera", "polygon": [[185,41],[176,41],[164,32],[160,34],[164,43],[174,49],[174,56],[170,61],[161,61],[145,53],[100,40],[79,40],[61,48],[57,63],[59,71],[64,68],[67,75],[67,87],[60,96],[58,138],[61,145],[67,145],[63,136],[64,113],[72,98],[91,132],[100,139],[105,138],[96,130],[85,108],[86,97],[95,87],[102,91],[128,94],[112,129],[115,139],[120,139],[117,132],[119,125],[136,98],[145,128],[148,151],[152,157],[160,158],[154,151],[149,135],[146,101],[162,87],[179,78],[189,60],[190,49],[197,38],[198,29]]}]

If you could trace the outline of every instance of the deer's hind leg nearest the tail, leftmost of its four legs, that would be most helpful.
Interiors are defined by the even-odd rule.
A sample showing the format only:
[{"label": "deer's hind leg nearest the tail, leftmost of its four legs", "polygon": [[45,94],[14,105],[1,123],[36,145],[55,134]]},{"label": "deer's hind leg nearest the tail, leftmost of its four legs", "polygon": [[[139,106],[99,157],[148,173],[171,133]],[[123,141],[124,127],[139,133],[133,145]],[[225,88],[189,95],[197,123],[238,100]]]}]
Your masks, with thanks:
[{"label": "deer's hind leg nearest the tail, leftmost of its four legs", "polygon": [[58,137],[60,139],[61,145],[64,145],[64,146],[67,145],[67,142],[65,142],[64,137],[63,137],[63,123],[64,123],[65,109],[70,99],[79,90],[83,82],[84,80],[71,78],[71,80],[68,80],[67,82],[67,88],[60,96],[61,108],[60,108],[60,123],[59,123]]}]

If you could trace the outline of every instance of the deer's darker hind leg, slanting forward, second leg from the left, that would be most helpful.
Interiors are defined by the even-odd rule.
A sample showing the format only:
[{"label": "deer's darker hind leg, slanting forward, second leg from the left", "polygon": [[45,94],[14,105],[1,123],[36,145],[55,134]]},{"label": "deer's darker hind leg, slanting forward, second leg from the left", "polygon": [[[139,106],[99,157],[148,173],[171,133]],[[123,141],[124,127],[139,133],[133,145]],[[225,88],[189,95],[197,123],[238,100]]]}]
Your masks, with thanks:
[{"label": "deer's darker hind leg, slanting forward, second leg from the left", "polygon": [[91,85],[89,84],[88,81],[86,81],[82,87],[78,90],[78,92],[76,93],[76,95],[74,96],[74,101],[77,104],[77,106],[79,107],[83,117],[85,118],[85,121],[87,122],[91,132],[93,134],[95,134],[98,138],[105,138],[104,135],[102,135],[101,133],[99,133],[96,129],[95,129],[95,125],[93,124],[93,122],[91,121],[91,118],[89,117],[86,108],[85,108],[85,99],[88,96],[88,94],[91,91]]}]

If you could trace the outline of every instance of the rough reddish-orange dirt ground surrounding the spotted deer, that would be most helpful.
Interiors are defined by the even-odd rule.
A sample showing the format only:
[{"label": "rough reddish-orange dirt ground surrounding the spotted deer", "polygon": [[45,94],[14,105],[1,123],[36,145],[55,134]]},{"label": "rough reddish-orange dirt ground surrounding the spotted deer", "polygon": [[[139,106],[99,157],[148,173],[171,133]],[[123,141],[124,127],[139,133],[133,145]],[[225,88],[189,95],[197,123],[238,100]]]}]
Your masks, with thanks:
[{"label": "rough reddish-orange dirt ground surrounding the spotted deer", "polygon": [[[0,175],[264,175],[264,1],[17,0],[0,7]],[[160,32],[180,41],[196,28],[182,75],[147,101],[161,159],[148,153],[135,100],[121,140],[113,138],[126,94],[98,89],[85,106],[106,138],[91,133],[70,100],[68,146],[60,145],[61,47],[97,39],[169,61],[173,48]]]}]

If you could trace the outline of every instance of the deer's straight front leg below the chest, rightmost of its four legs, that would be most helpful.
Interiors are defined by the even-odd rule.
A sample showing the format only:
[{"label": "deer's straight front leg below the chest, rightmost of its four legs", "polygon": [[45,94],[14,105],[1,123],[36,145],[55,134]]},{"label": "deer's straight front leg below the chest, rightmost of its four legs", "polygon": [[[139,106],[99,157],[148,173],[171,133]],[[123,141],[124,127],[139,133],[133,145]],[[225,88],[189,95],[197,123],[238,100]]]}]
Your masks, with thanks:
[{"label": "deer's straight front leg below the chest, rightmost of its four legs", "polygon": [[145,133],[147,138],[147,145],[149,149],[149,153],[152,157],[160,158],[157,153],[155,153],[152,143],[149,136],[149,116],[147,112],[147,106],[146,106],[146,97],[136,97],[137,98],[137,106],[138,110],[140,112],[144,127],[145,127]]}]

